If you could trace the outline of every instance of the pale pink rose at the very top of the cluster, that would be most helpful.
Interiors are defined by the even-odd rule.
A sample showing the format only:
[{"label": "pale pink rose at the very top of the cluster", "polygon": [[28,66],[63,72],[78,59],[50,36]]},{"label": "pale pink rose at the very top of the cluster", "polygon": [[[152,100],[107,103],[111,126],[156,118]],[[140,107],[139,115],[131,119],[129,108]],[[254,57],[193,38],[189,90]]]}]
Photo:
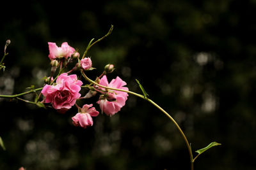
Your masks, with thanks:
[{"label": "pale pink rose at the very top of the cluster", "polygon": [[51,42],[48,42],[48,45],[49,45],[48,57],[51,60],[61,59],[63,57],[67,59],[68,57],[71,57],[72,53],[75,52],[75,49],[69,46],[67,42],[62,43],[61,47],[58,47],[56,43],[51,43]]}]

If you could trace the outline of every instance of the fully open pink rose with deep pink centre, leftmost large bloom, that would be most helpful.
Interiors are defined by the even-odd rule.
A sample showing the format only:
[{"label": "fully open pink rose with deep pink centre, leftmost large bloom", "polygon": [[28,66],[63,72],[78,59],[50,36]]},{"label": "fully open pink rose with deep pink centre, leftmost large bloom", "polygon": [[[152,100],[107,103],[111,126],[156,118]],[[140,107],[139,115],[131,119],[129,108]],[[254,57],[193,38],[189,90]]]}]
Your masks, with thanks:
[{"label": "fully open pink rose with deep pink centre, leftmost large bloom", "polygon": [[45,96],[45,103],[52,103],[52,107],[61,113],[65,113],[76,103],[81,94],[82,81],[77,80],[76,74],[68,76],[62,73],[56,80],[56,85],[45,85],[42,94]]}]

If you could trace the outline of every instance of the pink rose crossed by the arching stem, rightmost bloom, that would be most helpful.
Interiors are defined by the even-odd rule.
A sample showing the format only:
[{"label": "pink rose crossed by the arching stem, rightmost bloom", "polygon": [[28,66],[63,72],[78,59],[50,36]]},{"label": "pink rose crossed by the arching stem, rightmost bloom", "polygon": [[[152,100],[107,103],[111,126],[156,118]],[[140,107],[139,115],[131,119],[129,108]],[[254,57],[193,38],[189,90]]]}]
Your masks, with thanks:
[{"label": "pink rose crossed by the arching stem, rightmost bloom", "polygon": [[[112,87],[115,89],[129,90],[127,87],[124,87],[126,85],[125,81],[123,81],[118,76],[116,77],[116,79],[113,79],[110,83],[108,83],[107,76],[104,75],[100,79],[99,84],[104,85],[106,87]],[[104,90],[104,88],[100,89]],[[100,110],[102,112],[106,113],[106,115],[112,116],[115,115],[115,113],[117,113],[118,111],[120,111],[120,109],[125,105],[127,96],[127,92],[109,90],[108,94],[100,96],[99,101],[97,101],[97,103],[100,105]]]}]

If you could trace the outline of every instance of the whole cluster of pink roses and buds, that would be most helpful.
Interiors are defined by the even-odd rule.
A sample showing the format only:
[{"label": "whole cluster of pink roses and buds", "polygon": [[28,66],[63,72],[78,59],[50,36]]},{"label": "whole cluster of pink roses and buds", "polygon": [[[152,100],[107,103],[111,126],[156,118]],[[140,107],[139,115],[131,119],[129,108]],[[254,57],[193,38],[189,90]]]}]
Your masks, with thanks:
[{"label": "whole cluster of pink roses and buds", "polygon": [[[48,77],[45,82],[47,84],[42,89],[42,95],[44,99],[42,103],[50,103],[52,108],[60,113],[65,113],[67,110],[76,105],[78,113],[72,117],[73,124],[75,126],[86,128],[93,125],[92,117],[97,117],[99,111],[93,107],[93,104],[84,104],[83,107],[79,107],[77,100],[87,99],[99,94],[98,101],[101,113],[105,113],[108,116],[113,116],[115,113],[125,105],[128,94],[126,91],[129,89],[124,87],[126,85],[118,76],[108,83],[107,73],[111,73],[114,70],[113,64],[107,64],[104,67],[103,73],[95,80],[90,80],[84,71],[92,70],[92,59],[90,57],[82,57],[76,50],[69,46],[67,42],[62,43],[60,47],[56,43],[48,43],[49,45],[49,59],[51,60],[52,74],[56,72],[59,67],[60,73],[56,78]],[[64,72],[64,68],[67,67],[72,61],[77,60],[75,66],[70,71]],[[81,71],[81,75],[88,81],[87,85],[83,85],[83,82],[79,80],[77,74],[70,74],[73,71]],[[56,82],[54,82],[56,80]],[[93,83],[92,83],[93,82]],[[88,93],[81,97],[81,87],[88,89]],[[120,91],[121,90],[121,91]]]}]

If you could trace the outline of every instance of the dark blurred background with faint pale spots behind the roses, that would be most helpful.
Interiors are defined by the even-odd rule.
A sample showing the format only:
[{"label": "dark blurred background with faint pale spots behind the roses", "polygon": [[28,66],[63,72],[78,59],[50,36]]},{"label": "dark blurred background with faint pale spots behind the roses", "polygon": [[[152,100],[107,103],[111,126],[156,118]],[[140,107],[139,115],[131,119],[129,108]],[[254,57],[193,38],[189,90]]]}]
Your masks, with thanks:
[{"label": "dark blurred background with faint pale spots behind the roses", "polygon": [[[125,0],[5,1],[0,10],[0,94],[42,87],[49,76],[47,42],[67,41],[82,54],[92,38],[112,34],[88,53],[95,78],[115,64],[109,80],[168,111],[193,152],[212,141],[195,169],[255,169],[256,1]],[[31,99],[31,95],[26,99]],[[97,97],[84,103],[94,103]],[[129,96],[113,117],[99,115],[88,129],[65,115],[22,101],[0,99],[0,169],[189,169],[176,127],[143,99]],[[194,152],[194,155],[196,153]]]}]

